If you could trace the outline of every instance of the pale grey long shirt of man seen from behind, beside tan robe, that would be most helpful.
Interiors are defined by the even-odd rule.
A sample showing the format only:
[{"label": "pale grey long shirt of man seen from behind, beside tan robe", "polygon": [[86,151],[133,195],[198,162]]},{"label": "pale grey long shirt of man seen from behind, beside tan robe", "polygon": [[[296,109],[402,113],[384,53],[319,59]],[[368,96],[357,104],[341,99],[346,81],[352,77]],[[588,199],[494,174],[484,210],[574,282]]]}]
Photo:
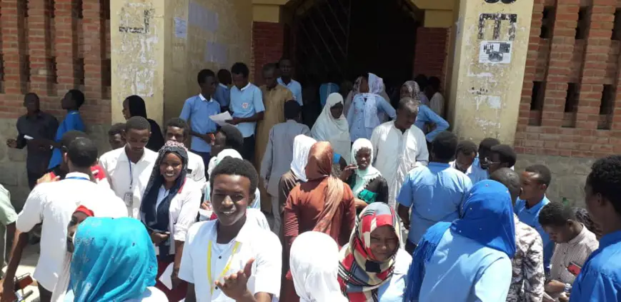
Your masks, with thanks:
[{"label": "pale grey long shirt of man seen from behind, beside tan robe", "polygon": [[293,140],[300,134],[310,136],[310,129],[292,119],[276,124],[269,130],[269,140],[261,162],[261,177],[267,183],[267,193],[271,196],[278,196],[280,177],[291,168]]}]

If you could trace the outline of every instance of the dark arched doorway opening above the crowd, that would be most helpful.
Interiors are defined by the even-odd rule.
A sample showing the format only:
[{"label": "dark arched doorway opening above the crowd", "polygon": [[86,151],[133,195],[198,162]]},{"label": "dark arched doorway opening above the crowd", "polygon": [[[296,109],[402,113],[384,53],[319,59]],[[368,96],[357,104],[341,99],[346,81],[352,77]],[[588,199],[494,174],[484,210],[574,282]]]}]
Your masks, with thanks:
[{"label": "dark arched doorway opening above the crowd", "polygon": [[419,22],[409,0],[300,0],[286,52],[303,86],[354,81],[364,72],[387,89],[412,79]]}]

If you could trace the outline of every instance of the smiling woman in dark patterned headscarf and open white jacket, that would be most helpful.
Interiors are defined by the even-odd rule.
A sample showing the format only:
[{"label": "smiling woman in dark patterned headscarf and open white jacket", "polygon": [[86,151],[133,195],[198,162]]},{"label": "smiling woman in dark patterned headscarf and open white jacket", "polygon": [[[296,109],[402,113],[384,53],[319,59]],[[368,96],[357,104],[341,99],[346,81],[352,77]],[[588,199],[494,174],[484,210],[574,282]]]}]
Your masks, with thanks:
[{"label": "smiling woman in dark patterned headscarf and open white jacket", "polygon": [[187,149],[167,141],[159,150],[140,206],[141,221],[158,252],[158,278],[173,264],[173,289],[161,281],[156,287],[171,301],[184,298],[187,283],[177,277],[187,230],[196,221],[201,204],[201,186],[187,177]]}]

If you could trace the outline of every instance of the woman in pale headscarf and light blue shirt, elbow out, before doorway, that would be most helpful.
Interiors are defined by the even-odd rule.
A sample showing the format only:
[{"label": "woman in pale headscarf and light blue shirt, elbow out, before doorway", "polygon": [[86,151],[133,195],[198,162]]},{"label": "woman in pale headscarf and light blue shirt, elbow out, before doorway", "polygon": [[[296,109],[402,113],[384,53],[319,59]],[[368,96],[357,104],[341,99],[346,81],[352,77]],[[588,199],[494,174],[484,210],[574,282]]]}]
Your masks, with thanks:
[{"label": "woman in pale headscarf and light blue shirt, elbow out, before doorway", "polygon": [[382,124],[384,115],[390,119],[397,117],[397,111],[384,99],[384,80],[375,74],[362,76],[360,93],[354,96],[352,107],[347,112],[349,137],[351,141],[370,139],[373,129]]}]

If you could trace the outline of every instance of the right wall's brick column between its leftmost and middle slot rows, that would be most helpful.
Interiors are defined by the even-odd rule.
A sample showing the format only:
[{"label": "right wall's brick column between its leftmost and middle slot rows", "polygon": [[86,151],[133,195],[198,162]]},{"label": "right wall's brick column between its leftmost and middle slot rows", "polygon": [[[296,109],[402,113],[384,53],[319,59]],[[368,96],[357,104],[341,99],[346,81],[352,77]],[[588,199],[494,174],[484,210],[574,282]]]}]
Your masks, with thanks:
[{"label": "right wall's brick column between its leftmost and middle slot rows", "polygon": [[545,102],[542,110],[545,119],[542,119],[542,126],[562,126],[579,10],[580,0],[557,1],[550,61],[545,76]]}]

